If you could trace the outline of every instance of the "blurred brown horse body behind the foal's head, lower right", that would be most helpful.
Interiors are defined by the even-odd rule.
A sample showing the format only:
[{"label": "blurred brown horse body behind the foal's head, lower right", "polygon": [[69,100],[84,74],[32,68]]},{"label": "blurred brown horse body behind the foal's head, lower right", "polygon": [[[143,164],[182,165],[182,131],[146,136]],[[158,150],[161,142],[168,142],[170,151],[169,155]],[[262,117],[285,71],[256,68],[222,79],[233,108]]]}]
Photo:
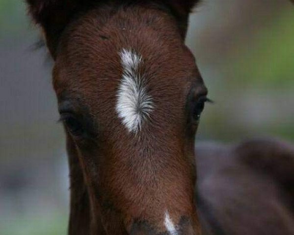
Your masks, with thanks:
[{"label": "blurred brown horse body behind the foal's head, lower right", "polygon": [[294,146],[251,140],[196,144],[204,235],[293,235]]}]

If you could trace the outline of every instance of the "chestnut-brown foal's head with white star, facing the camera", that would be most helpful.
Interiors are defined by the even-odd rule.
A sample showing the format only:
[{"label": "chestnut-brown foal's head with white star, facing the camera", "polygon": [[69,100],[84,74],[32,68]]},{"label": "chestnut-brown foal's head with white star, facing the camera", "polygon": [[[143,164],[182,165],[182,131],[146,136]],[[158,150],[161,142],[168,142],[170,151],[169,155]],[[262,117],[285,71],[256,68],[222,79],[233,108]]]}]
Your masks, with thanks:
[{"label": "chestnut-brown foal's head with white star, facing the camera", "polygon": [[199,235],[200,223],[226,233],[207,216],[218,204],[198,166],[196,188],[206,158],[195,158],[195,134],[210,99],[184,41],[198,0],[26,1],[54,60],[69,235]]}]

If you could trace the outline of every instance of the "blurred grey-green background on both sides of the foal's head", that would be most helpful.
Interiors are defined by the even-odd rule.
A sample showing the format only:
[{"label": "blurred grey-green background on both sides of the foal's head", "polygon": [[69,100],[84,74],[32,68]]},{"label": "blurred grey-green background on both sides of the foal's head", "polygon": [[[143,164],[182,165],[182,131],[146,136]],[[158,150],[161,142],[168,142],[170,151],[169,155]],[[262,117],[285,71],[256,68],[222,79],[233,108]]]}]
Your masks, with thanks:
[{"label": "blurred grey-green background on both sides of the foal's head", "polygon": [[[294,6],[204,0],[187,45],[215,101],[197,140],[294,141]],[[0,0],[0,235],[66,234],[68,169],[45,48],[23,0]]]}]

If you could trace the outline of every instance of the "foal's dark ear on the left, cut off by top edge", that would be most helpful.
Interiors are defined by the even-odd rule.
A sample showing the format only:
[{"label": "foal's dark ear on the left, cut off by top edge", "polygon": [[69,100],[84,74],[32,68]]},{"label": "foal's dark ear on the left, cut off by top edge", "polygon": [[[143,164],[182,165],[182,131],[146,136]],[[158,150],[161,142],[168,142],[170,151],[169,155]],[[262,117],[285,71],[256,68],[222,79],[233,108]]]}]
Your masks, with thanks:
[{"label": "foal's dark ear on the left, cut off by top edge", "polygon": [[53,58],[60,34],[79,8],[78,0],[26,0],[29,14],[40,25]]}]

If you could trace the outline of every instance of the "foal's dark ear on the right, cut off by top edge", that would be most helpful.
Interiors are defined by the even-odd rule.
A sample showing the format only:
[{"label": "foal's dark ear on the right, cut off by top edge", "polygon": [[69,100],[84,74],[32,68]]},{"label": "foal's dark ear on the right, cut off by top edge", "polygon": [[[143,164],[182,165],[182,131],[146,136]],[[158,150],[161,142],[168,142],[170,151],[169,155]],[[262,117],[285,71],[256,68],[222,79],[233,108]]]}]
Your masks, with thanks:
[{"label": "foal's dark ear on the right, cut off by top edge", "polygon": [[193,8],[201,0],[162,0],[172,11],[178,21],[183,38],[185,38],[188,28],[189,15]]}]

